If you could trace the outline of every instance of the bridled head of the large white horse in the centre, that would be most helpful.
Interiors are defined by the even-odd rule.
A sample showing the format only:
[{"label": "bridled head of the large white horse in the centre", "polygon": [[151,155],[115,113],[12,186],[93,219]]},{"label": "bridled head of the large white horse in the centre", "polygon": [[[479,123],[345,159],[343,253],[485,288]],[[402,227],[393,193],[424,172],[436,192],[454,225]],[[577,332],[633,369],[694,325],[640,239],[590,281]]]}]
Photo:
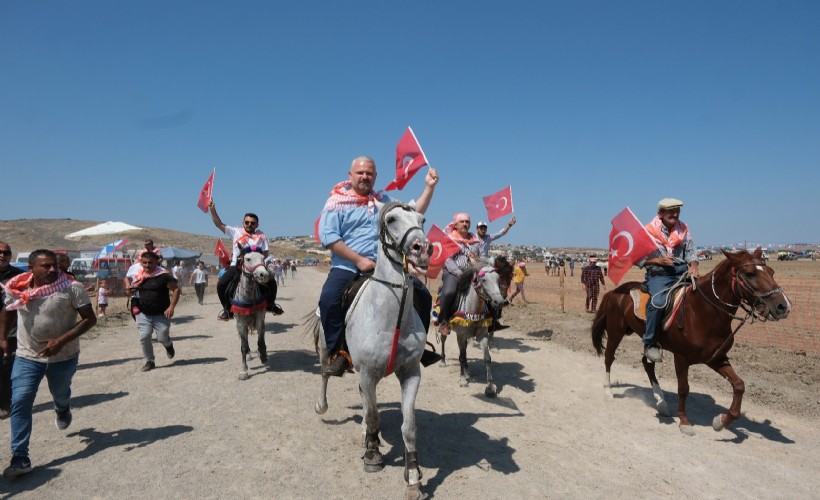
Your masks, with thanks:
[{"label": "bridled head of the large white horse in the centre", "polygon": [[424,216],[415,204],[376,202],[379,208],[379,242],[387,258],[412,273],[425,274],[433,247],[424,235]]}]

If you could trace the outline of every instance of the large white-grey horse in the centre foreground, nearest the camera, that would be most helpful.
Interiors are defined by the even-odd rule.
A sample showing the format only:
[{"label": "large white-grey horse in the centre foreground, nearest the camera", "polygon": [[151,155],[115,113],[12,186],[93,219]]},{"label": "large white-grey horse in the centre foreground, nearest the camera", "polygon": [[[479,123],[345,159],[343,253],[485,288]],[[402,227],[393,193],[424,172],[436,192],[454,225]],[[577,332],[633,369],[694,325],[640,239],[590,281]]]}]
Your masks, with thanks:
[{"label": "large white-grey horse in the centre foreground, nearest the camera", "polygon": [[[379,245],[373,275],[360,288],[347,312],[346,339],[359,372],[359,392],[364,412],[364,470],[383,468],[379,452],[379,412],[376,385],[393,373],[401,386],[401,432],[404,439],[404,479],[407,497],[420,498],[421,470],[416,452],[416,394],[421,382],[419,361],[427,332],[413,308],[412,273],[425,272],[432,247],[424,235],[424,217],[415,205],[377,203]],[[313,340],[322,373],[328,363],[325,336],[318,318],[313,318]],[[316,413],[327,411],[328,376],[322,375]]]}]

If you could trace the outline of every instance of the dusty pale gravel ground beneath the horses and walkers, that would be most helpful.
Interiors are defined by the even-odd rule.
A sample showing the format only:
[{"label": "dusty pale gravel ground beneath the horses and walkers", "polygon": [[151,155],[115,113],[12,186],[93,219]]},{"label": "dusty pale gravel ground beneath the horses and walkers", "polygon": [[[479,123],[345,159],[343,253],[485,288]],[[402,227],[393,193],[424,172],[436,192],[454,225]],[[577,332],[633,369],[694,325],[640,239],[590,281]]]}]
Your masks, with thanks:
[{"label": "dusty pale gravel ground beneath the horses and walkers", "polygon": [[[245,382],[237,379],[234,326],[213,319],[213,295],[199,306],[186,291],[172,328],[177,357],[165,359],[157,346],[158,368],[149,373],[139,372],[130,320],[90,332],[74,379],[73,425],[55,428],[41,386],[31,442],[35,470],[0,479],[0,493],[399,498],[403,445],[395,380],[379,386],[382,472],[362,470],[354,376],[332,380],[330,409],[323,416],[313,412],[317,358],[301,318],[315,307],[323,278],[320,270],[302,268],[296,281],[288,280],[280,292],[286,313],[267,323],[270,359],[267,366],[255,359]],[[816,498],[816,379],[794,373],[802,365],[793,357],[735,353],[749,388],[746,415],[722,432],[710,422],[725,411],[729,389],[708,370],[694,370],[689,409],[697,435],[686,437],[675,419],[655,412],[636,339],[624,342],[610,398],[601,387],[603,362],[589,347],[588,316],[535,304],[509,309],[506,319],[512,328],[497,339],[494,357],[497,399],[483,396],[484,368],[474,348],[468,354],[476,383],[468,388],[458,387],[454,364],[423,370],[419,461],[431,496]],[[448,345],[451,358],[453,348]],[[670,366],[663,368],[661,382],[674,391]],[[676,402],[674,393],[669,399]],[[0,441],[8,443],[8,421],[0,423]],[[0,454],[8,458],[8,451]]]}]

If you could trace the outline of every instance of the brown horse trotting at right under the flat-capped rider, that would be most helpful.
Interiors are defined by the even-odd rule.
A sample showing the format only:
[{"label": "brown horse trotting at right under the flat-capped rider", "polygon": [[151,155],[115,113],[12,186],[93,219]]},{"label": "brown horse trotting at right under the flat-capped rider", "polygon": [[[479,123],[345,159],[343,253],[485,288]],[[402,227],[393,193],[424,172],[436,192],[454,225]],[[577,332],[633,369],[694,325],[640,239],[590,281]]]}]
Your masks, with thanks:
[{"label": "brown horse trotting at right under the flat-capped rider", "polygon": [[[745,390],[743,380],[737,376],[729,363],[727,353],[734,343],[734,335],[743,324],[752,321],[785,319],[791,311],[789,299],[774,280],[774,271],[763,260],[760,248],[754,254],[743,250],[736,253],[723,252],[726,260],[709,274],[697,279],[695,287],[687,290],[683,305],[669,330],[659,334],[661,347],[675,358],[678,377],[678,418],[680,429],[693,434],[692,424],[686,417],[686,396],[689,395],[689,367],[704,363],[732,384],[732,405],[726,414],[718,415],[712,427],[719,431],[740,417],[740,404]],[[604,351],[603,337],[607,343],[604,355],[606,379],[604,387],[611,387],[610,369],[615,351],[624,335],[632,332],[643,334],[644,322],[634,314],[629,291],[640,283],[624,283],[607,292],[592,322],[592,345],[598,355]],[[738,308],[745,317],[737,315]],[[740,320],[733,330],[732,320]],[[658,412],[670,416],[663,398],[655,364],[642,359],[655,394]]]}]

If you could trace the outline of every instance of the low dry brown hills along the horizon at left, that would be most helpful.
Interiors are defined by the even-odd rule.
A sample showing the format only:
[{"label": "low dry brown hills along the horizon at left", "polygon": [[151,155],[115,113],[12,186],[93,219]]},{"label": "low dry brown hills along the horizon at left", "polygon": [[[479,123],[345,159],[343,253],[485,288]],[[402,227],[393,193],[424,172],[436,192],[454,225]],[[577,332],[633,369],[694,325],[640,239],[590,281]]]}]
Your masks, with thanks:
[{"label": "low dry brown hills along the horizon at left", "polygon": [[[142,242],[147,238],[154,240],[158,247],[180,247],[195,252],[202,252],[204,255],[212,255],[216,245],[217,236],[186,233],[182,231],[172,231],[155,227],[147,227],[134,233],[95,236],[83,238],[80,241],[70,241],[65,239],[65,235],[86,229],[105,221],[86,221],[74,219],[15,219],[0,220],[0,241],[5,241],[11,245],[14,257],[18,252],[30,252],[38,248],[49,248],[52,250],[99,250],[104,245],[116,241],[120,238],[128,239],[125,246],[127,252],[133,252],[142,247]],[[214,232],[216,229],[214,228]],[[223,238],[228,244],[227,238]],[[299,242],[310,240],[308,237],[296,238],[292,241],[276,241],[271,243],[271,254],[275,257],[292,257],[302,259],[305,257],[316,257],[315,254],[308,253],[300,248]]]}]

